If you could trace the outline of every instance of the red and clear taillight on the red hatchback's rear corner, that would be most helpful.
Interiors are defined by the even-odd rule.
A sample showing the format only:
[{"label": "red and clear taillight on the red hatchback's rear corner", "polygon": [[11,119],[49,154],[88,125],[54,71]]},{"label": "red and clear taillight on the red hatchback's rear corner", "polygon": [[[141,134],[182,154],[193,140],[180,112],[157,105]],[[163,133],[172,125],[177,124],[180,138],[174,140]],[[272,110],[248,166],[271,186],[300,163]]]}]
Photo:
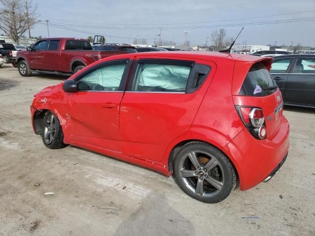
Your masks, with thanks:
[{"label": "red and clear taillight on the red hatchback's rear corner", "polygon": [[262,109],[249,106],[235,106],[247,130],[256,139],[265,139],[267,129],[265,126],[265,115]]}]

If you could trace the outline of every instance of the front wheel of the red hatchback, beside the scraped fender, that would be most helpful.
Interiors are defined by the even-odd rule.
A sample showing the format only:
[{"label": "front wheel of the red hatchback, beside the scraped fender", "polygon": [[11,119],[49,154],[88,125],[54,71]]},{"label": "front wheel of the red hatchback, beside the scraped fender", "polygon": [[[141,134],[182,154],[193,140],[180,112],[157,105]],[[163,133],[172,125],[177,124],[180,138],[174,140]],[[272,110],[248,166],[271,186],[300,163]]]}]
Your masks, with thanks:
[{"label": "front wheel of the red hatchback, beside the scraped fender", "polygon": [[41,134],[47,148],[60,149],[66,146],[63,143],[63,129],[60,121],[51,111],[47,111],[44,115]]}]

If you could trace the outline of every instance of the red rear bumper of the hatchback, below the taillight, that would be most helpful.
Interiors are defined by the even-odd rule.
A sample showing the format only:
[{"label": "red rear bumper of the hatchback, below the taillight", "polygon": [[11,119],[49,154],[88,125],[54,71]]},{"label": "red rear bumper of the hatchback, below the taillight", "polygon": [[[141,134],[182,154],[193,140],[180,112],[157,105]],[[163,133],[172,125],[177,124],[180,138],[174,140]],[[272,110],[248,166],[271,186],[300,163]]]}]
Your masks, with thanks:
[{"label": "red rear bumper of the hatchback, below the taillight", "polygon": [[[289,148],[289,123],[283,117],[279,132],[271,139],[257,140],[243,129],[223,151],[232,160],[240,180],[240,189],[247,190],[274,175],[282,166]],[[267,179],[268,180],[268,179]]]}]

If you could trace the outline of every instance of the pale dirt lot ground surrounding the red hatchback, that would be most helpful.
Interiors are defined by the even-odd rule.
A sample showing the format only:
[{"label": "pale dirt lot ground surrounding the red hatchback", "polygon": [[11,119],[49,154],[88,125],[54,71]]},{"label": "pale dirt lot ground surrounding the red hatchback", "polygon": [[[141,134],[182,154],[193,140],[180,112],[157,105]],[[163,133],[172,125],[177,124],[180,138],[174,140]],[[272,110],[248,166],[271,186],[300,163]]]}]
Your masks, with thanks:
[{"label": "pale dirt lot ground surrounding the red hatchback", "polygon": [[284,108],[291,144],[275,177],[208,205],[171,177],[81,148],[45,148],[29,107],[65,78],[0,68],[1,236],[315,235],[315,109]]}]

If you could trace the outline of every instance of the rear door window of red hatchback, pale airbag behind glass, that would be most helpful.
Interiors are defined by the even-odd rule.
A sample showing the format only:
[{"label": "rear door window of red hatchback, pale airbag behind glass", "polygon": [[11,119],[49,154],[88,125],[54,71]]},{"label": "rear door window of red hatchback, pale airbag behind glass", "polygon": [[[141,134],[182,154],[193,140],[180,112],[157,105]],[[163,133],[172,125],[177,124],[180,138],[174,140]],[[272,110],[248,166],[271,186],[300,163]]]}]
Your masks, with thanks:
[{"label": "rear door window of red hatchback, pale airbag behind glass", "polygon": [[139,64],[132,90],[185,92],[190,69],[186,65]]}]

